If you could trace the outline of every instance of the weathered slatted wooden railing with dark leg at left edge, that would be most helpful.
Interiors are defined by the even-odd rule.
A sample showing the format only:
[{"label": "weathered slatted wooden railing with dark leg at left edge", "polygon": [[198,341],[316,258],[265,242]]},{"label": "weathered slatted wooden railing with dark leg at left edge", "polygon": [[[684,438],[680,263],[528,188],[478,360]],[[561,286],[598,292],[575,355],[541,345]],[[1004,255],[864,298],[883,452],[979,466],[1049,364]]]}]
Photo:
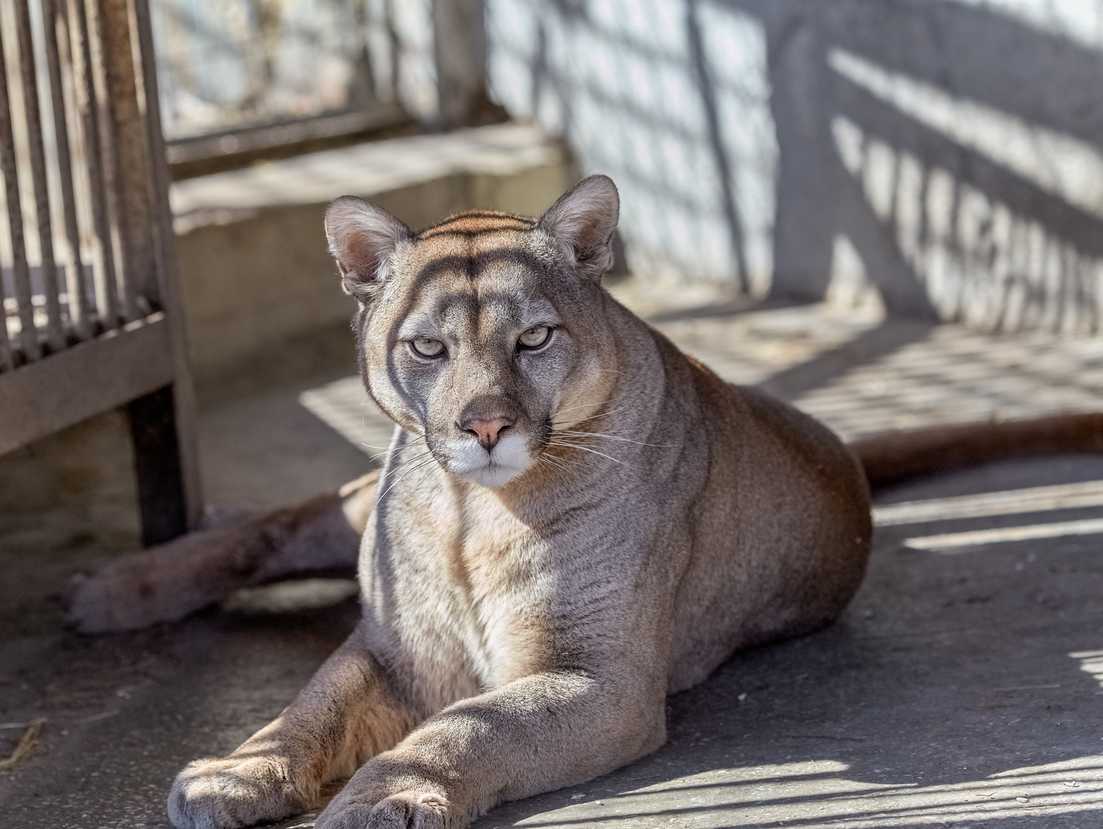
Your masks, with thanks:
[{"label": "weathered slatted wooden railing with dark leg at left edge", "polygon": [[0,454],[126,405],[148,542],[200,509],[147,0],[0,3]]}]

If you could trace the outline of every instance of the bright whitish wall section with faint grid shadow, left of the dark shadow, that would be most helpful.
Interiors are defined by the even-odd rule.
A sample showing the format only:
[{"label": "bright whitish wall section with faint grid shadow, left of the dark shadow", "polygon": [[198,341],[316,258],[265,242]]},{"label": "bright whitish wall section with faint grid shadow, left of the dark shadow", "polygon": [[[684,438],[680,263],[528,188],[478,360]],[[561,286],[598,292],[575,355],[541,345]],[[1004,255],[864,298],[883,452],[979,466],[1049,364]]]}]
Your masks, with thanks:
[{"label": "bright whitish wall section with faint grid shadow, left of the dark shadow", "polygon": [[769,286],[777,160],[762,22],[683,0],[489,0],[492,94],[622,194],[650,278]]}]

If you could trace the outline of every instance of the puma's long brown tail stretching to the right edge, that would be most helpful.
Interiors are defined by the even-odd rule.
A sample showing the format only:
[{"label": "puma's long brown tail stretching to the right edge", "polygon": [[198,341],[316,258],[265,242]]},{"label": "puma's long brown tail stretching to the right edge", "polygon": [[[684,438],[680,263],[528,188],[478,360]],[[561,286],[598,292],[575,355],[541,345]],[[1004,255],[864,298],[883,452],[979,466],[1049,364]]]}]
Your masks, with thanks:
[{"label": "puma's long brown tail stretching to the right edge", "polygon": [[1103,413],[899,429],[849,444],[869,486],[970,464],[1064,451],[1103,451]]}]

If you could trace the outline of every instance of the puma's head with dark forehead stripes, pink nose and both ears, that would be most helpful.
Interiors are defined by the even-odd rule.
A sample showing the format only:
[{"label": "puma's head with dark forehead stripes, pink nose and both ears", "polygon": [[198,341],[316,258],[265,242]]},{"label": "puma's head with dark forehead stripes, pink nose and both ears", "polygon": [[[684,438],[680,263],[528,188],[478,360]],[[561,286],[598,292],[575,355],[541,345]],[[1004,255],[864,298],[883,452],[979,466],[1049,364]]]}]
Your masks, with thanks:
[{"label": "puma's head with dark forehead stripes, pink nose and both ears", "polygon": [[420,233],[356,196],[330,205],[364,384],[447,471],[501,487],[553,428],[608,401],[617,357],[600,280],[618,211],[604,176],[539,220],[472,211]]}]

